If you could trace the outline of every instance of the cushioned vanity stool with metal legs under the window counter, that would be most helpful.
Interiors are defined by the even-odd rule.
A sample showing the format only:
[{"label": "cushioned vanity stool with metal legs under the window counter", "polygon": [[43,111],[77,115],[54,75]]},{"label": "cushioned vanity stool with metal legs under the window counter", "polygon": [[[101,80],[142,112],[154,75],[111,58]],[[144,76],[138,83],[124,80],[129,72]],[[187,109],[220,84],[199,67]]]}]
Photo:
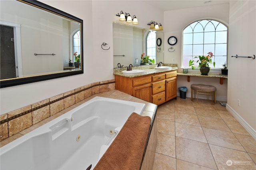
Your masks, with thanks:
[{"label": "cushioned vanity stool with metal legs under the window counter", "polygon": [[198,94],[205,94],[207,95],[207,100],[208,100],[208,95],[212,96],[212,104],[216,104],[216,87],[212,85],[204,85],[204,84],[191,84],[191,100],[193,102],[194,99],[196,99],[196,94],[197,94],[197,102],[198,102]]}]

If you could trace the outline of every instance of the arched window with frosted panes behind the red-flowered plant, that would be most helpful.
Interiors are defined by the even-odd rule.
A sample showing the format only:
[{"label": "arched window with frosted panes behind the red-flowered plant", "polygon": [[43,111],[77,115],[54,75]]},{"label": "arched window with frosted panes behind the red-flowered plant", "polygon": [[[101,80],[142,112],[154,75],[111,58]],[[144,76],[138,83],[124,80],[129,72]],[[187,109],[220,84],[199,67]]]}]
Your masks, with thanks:
[{"label": "arched window with frosted panes behind the red-flowered plant", "polygon": [[[183,29],[182,67],[188,67],[188,62],[199,55],[213,53],[212,62],[215,68],[223,68],[227,61],[228,28],[214,20],[200,20],[191,23]],[[213,67],[213,64],[210,65]]]}]

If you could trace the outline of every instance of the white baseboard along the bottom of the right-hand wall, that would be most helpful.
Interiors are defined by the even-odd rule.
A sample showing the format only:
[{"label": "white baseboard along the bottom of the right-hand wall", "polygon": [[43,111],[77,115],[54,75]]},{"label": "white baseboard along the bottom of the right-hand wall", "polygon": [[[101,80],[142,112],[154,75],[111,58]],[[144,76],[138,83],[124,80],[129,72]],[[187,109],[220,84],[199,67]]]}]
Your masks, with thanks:
[{"label": "white baseboard along the bottom of the right-hand wall", "polygon": [[226,104],[226,109],[230,114],[232,114],[235,119],[246,129],[246,131],[256,140],[256,131],[240,116],[234,109],[232,109],[228,104]]}]

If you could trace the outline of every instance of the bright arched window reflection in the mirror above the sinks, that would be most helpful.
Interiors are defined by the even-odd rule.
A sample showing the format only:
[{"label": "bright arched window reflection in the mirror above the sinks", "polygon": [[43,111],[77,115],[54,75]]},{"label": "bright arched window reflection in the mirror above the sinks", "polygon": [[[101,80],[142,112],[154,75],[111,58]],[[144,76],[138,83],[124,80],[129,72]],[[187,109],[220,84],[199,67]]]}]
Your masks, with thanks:
[{"label": "bright arched window reflection in the mirror above the sinks", "polygon": [[147,55],[156,61],[156,32],[149,31],[147,36]]}]

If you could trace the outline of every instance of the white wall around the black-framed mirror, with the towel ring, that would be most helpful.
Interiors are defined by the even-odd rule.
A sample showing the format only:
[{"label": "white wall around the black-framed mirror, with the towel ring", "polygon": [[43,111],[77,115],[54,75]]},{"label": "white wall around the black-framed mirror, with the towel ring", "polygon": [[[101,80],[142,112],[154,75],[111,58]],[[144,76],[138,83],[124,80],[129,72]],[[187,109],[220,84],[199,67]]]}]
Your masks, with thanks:
[{"label": "white wall around the black-framed mirror, with the towel ring", "polygon": [[[151,20],[164,25],[163,12],[142,1],[136,1],[136,5],[125,0],[40,0],[40,2],[84,21],[84,74],[1,88],[1,114],[92,82],[114,79],[112,23],[120,22],[116,14],[121,10],[136,15],[139,21],[137,27],[148,28],[147,23]],[[144,9],[155,9],[155,12],[145,12],[141,9],[142,6]],[[101,49],[103,42],[109,44],[110,50]]]}]

